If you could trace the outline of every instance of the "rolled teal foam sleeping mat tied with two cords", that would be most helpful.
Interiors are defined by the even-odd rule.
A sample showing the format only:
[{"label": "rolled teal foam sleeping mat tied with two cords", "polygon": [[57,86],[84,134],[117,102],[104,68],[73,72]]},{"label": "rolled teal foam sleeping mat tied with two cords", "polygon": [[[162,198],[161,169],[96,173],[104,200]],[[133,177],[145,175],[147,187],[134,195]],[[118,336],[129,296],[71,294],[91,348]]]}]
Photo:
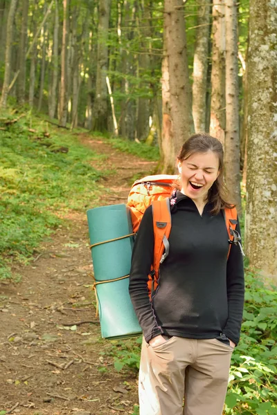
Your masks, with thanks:
[{"label": "rolled teal foam sleeping mat tied with two cords", "polygon": [[134,237],[126,237],[133,233],[129,208],[120,204],[90,209],[87,220],[102,338],[139,335],[141,327],[129,297],[129,277],[125,277],[134,245]]}]

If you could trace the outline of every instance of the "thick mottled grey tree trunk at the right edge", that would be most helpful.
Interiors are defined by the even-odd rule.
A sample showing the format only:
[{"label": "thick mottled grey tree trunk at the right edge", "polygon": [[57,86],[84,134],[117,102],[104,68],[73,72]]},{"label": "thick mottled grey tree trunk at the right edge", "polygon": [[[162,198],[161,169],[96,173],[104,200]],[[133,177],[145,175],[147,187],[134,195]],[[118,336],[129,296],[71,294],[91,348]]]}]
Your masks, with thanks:
[{"label": "thick mottled grey tree trunk at the right edge", "polygon": [[[250,266],[277,284],[277,3],[250,1],[247,208]],[[261,18],[262,17],[262,18]]]}]

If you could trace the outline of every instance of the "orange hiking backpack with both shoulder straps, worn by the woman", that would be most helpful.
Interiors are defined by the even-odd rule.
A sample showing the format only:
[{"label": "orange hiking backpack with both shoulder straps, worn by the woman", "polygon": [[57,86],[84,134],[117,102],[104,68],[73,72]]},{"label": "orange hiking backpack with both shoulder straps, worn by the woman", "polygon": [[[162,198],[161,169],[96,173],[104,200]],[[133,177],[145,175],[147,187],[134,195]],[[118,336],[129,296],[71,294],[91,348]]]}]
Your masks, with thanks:
[{"label": "orange hiking backpack with both shoulder straps, worn by the woman", "polygon": [[[134,182],[129,192],[127,205],[131,209],[132,225],[137,232],[143,214],[152,205],[153,229],[154,229],[154,259],[149,275],[148,291],[151,297],[152,291],[156,290],[159,279],[159,266],[168,256],[168,237],[171,230],[170,196],[172,184],[177,180],[176,175],[159,174],[146,176]],[[231,243],[240,243],[240,235],[235,230],[238,223],[238,213],[235,208],[225,209],[224,217],[229,234],[229,253]],[[229,257],[228,253],[228,257]],[[227,257],[227,259],[228,259]]]}]

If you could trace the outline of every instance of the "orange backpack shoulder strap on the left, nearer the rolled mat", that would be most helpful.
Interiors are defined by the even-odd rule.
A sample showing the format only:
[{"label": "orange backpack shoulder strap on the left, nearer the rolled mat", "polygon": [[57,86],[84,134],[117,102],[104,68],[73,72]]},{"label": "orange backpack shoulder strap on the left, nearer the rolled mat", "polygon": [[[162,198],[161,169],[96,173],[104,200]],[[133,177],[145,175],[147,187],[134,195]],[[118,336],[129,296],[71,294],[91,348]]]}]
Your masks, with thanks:
[{"label": "orange backpack shoulder strap on the left, nearer the rolled mat", "polygon": [[152,202],[152,216],[154,230],[153,268],[156,277],[158,277],[159,265],[166,259],[169,252],[168,237],[171,230],[171,213],[168,197],[161,201]]}]

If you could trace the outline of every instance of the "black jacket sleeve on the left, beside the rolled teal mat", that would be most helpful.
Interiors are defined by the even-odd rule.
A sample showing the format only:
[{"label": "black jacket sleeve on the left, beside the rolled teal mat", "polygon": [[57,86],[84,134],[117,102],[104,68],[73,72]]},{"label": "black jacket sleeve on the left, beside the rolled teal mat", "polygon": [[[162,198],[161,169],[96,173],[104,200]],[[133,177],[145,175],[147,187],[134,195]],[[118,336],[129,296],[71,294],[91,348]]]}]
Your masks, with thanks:
[{"label": "black jacket sleeve on the left, beside the rolled teal mat", "polygon": [[148,275],[154,255],[152,206],[145,210],[136,235],[129,276],[129,295],[146,342],[163,333],[148,296]]}]

